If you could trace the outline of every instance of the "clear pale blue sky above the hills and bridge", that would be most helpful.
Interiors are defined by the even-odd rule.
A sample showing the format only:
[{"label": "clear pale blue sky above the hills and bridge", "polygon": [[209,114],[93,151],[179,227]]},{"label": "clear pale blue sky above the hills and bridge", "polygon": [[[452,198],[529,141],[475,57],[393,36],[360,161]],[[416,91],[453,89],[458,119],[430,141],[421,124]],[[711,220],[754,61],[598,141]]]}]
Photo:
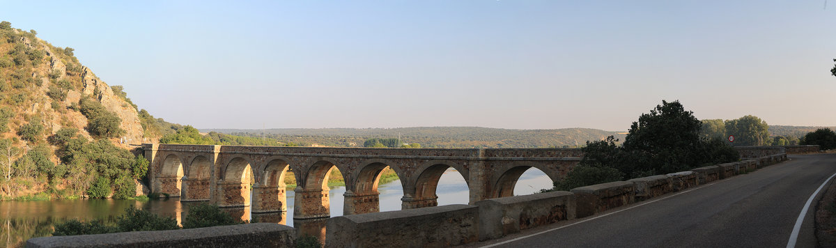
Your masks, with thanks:
[{"label": "clear pale blue sky above the hills and bridge", "polygon": [[836,125],[836,1],[8,1],[155,117],[197,128]]}]

